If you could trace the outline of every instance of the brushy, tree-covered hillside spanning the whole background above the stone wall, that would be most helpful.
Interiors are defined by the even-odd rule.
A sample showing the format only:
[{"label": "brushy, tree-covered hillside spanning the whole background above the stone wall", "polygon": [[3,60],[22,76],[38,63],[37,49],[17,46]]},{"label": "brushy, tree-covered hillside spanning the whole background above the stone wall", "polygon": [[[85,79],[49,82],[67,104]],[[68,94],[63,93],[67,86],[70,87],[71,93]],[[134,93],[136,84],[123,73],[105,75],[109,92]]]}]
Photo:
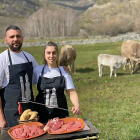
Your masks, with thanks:
[{"label": "brushy, tree-covered hillside spanning the whole background above the stone wall", "polygon": [[139,6],[140,0],[0,0],[0,38],[10,24],[26,37],[140,33]]}]

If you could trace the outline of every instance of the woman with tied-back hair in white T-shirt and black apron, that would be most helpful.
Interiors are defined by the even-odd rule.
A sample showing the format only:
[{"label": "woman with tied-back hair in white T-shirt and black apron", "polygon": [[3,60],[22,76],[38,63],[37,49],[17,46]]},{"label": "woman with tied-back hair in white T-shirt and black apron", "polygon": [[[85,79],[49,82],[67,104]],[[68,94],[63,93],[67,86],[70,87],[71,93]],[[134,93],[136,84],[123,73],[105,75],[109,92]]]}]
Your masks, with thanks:
[{"label": "woman with tied-back hair in white T-shirt and black apron", "polygon": [[36,102],[46,104],[46,106],[36,105],[39,121],[42,123],[55,117],[65,118],[69,116],[68,111],[55,108],[68,109],[64,89],[66,89],[74,105],[72,107],[73,114],[79,115],[81,113],[78,95],[72,78],[64,71],[63,67],[58,66],[58,60],[58,46],[50,41],[44,48],[45,64],[34,69],[33,81],[37,83],[39,92]]}]

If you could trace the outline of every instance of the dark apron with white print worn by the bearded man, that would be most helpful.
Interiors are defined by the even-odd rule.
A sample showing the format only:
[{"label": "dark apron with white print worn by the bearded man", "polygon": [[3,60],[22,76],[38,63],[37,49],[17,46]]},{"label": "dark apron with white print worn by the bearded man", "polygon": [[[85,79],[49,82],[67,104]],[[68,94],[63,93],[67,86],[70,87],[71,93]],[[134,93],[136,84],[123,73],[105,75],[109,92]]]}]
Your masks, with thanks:
[{"label": "dark apron with white print worn by the bearded man", "polygon": [[[24,56],[26,57],[25,54]],[[10,65],[8,66],[9,83],[5,88],[0,90],[0,96],[8,127],[12,127],[18,124],[17,118],[20,116],[18,112],[18,102],[24,98],[32,101],[34,100],[32,91],[33,67],[32,62],[29,62],[27,57],[27,63],[12,65],[9,49],[8,57],[10,61]],[[34,105],[29,103],[22,104],[22,107],[23,111],[28,108],[34,109]]]}]

